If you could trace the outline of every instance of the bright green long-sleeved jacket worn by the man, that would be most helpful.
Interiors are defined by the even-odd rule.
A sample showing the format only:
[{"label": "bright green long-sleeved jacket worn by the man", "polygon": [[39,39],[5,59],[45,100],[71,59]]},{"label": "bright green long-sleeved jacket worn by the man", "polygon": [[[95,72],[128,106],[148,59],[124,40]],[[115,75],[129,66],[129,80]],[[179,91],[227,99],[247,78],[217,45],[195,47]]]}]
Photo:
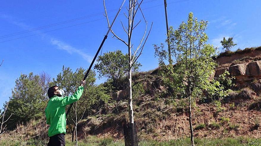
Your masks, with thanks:
[{"label": "bright green long-sleeved jacket worn by the man", "polygon": [[65,106],[78,101],[82,96],[83,86],[71,96],[58,97],[52,96],[45,109],[46,123],[50,125],[48,136],[54,136],[60,133],[66,133],[66,114]]}]

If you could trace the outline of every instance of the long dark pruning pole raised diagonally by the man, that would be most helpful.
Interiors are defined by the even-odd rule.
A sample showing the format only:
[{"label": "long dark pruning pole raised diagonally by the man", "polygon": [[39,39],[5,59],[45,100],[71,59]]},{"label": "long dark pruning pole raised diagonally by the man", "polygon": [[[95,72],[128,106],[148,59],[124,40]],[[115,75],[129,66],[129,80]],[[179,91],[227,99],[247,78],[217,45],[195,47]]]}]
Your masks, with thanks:
[{"label": "long dark pruning pole raised diagonally by the man", "polygon": [[[98,56],[98,54],[99,54],[99,52],[100,52],[100,50],[101,50],[101,47],[103,46],[105,40],[107,39],[108,34],[109,34],[109,32],[110,32],[110,30],[111,30],[111,28],[112,28],[112,25],[113,25],[114,21],[116,20],[118,14],[120,13],[120,10],[122,9],[122,6],[123,6],[123,4],[125,3],[125,1],[126,1],[126,0],[123,0],[122,4],[121,4],[121,6],[120,6],[120,9],[118,10],[116,16],[114,17],[114,19],[113,19],[113,21],[112,21],[112,24],[111,24],[111,26],[110,26],[110,28],[109,28],[109,30],[107,31],[106,35],[104,36],[104,38],[103,38],[103,40],[102,40],[102,42],[101,42],[101,45],[100,45],[99,49],[97,50],[97,52],[96,52],[96,54],[95,54],[95,56],[94,56],[94,58],[93,58],[93,61],[92,61],[92,63],[90,64],[90,66],[89,66],[89,68],[88,68],[88,70],[87,70],[87,72],[86,72],[86,74],[85,74],[83,80],[85,80],[85,79],[87,78],[87,76],[88,76],[88,74],[89,74],[89,72],[90,72],[90,70],[91,70],[91,68],[92,68],[92,66],[93,66],[93,63],[94,63],[94,61],[96,60],[96,58],[97,58],[97,56]],[[73,105],[73,104],[70,104],[70,107],[69,107],[68,111],[66,112],[66,116],[69,114],[72,105]]]}]

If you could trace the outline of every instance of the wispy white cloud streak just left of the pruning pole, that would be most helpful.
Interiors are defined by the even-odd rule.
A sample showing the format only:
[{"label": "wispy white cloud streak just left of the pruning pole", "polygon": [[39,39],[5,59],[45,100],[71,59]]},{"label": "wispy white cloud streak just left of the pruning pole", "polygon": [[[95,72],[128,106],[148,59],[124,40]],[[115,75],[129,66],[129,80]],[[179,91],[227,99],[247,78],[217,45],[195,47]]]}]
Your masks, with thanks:
[{"label": "wispy white cloud streak just left of the pruning pole", "polygon": [[82,50],[72,47],[71,45],[66,44],[65,42],[52,38],[51,43],[52,43],[52,45],[55,45],[58,49],[66,50],[70,54],[77,53],[78,55],[82,56],[82,58],[85,59],[86,61],[88,61],[89,63],[91,63],[91,61],[92,61],[91,57],[89,55],[87,55],[86,53],[82,52]]}]

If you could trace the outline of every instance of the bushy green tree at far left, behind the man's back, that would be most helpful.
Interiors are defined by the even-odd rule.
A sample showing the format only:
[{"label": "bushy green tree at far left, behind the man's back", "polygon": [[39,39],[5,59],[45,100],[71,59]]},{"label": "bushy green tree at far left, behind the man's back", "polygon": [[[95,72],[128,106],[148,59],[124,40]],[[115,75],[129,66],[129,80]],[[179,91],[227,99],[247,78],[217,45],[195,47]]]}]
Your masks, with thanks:
[{"label": "bushy green tree at far left, behind the man's back", "polygon": [[[15,81],[15,88],[12,90],[12,98],[9,101],[6,116],[9,117],[7,128],[15,128],[17,123],[26,123],[31,119],[43,117],[47,105],[47,89],[50,77],[42,73],[34,75],[21,74]],[[4,107],[7,106],[7,102]]]}]

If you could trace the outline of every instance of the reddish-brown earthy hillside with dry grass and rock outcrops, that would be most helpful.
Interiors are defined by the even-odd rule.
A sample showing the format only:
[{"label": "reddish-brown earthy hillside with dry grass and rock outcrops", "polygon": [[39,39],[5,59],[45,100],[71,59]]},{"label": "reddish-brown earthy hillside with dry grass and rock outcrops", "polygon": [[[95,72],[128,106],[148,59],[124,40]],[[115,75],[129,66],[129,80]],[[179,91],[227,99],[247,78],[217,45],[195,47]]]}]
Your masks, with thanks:
[{"label": "reddish-brown earthy hillside with dry grass and rock outcrops", "polygon": [[[196,101],[193,106],[193,128],[197,138],[261,138],[261,47],[228,52],[215,59],[214,77],[224,71],[235,76],[236,86],[224,100]],[[190,136],[186,101],[171,102],[168,90],[158,75],[160,68],[133,75],[134,118],[139,140],[173,140]],[[123,139],[123,124],[128,122],[127,78],[122,78],[109,103],[93,107],[96,115],[84,117],[78,124],[79,140],[86,137]],[[220,104],[221,103],[221,104]],[[45,119],[20,125],[1,139],[47,140]],[[71,131],[68,128],[68,137]],[[69,139],[69,138],[68,138]]]}]

